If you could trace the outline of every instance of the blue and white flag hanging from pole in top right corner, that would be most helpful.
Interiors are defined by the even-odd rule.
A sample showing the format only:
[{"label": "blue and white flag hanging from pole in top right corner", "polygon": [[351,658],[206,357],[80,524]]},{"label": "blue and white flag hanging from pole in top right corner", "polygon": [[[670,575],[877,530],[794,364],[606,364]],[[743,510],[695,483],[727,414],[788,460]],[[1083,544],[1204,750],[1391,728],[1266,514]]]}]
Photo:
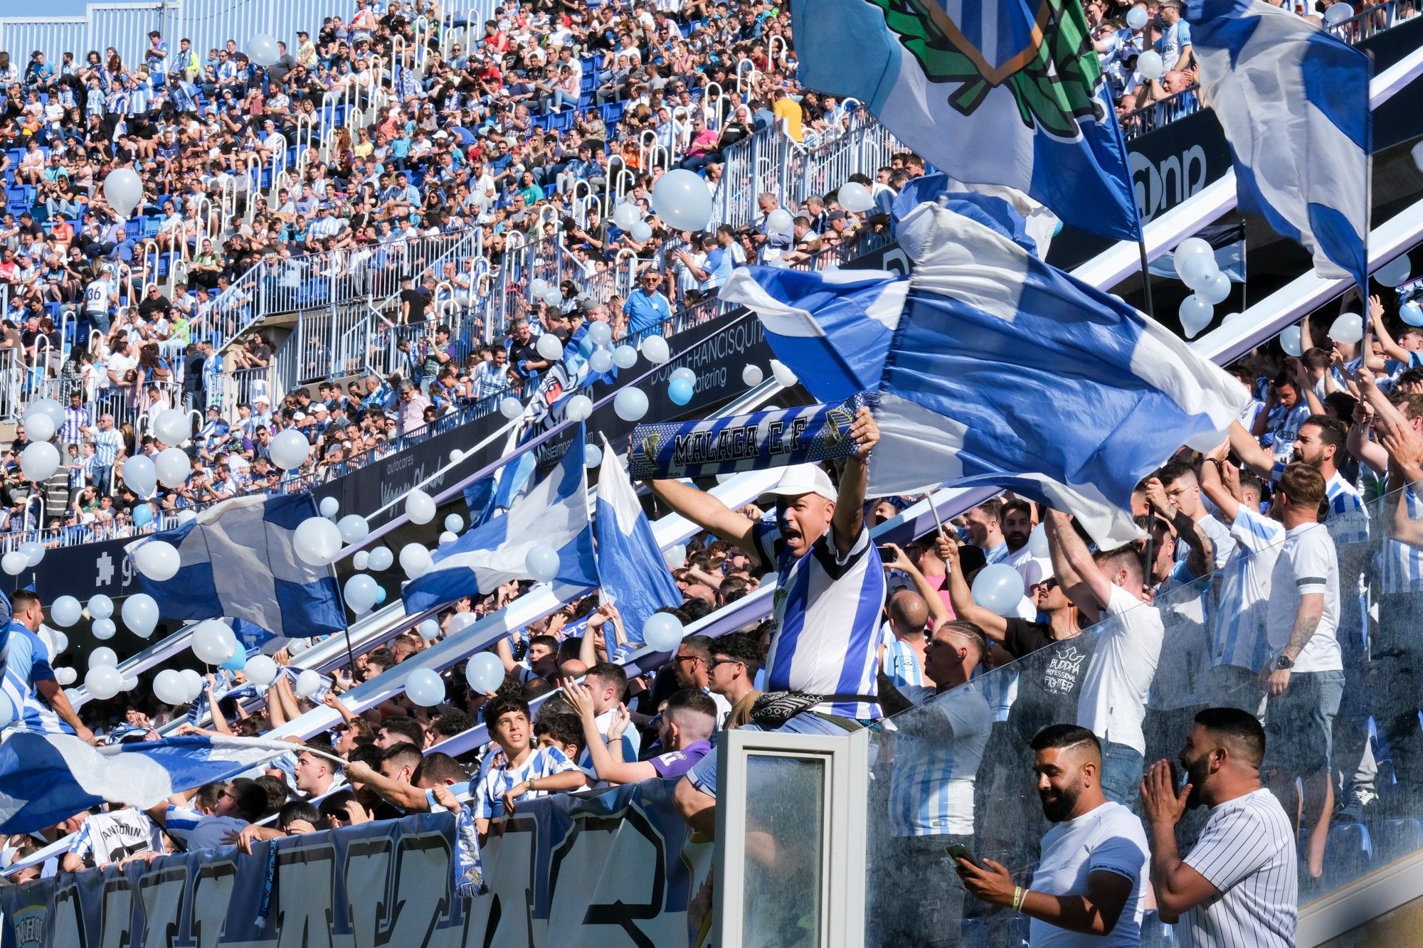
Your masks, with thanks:
[{"label": "blue and white flag hanging from pole in top right corner", "polygon": [[1262,0],[1191,0],[1201,93],[1235,157],[1239,206],[1368,295],[1369,57]]}]

